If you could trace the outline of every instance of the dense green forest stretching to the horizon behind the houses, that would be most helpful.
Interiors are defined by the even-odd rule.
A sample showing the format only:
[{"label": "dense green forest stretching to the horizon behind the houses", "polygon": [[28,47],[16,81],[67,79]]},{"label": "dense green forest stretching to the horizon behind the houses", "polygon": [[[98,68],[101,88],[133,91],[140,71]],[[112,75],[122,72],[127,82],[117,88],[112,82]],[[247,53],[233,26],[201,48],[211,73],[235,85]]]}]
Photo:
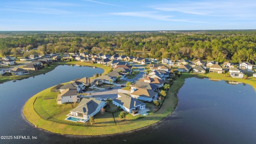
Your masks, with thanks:
[{"label": "dense green forest stretching to the horizon behind the houses", "polygon": [[[256,60],[256,30],[135,32],[0,32],[0,54],[88,52],[179,60]],[[26,51],[28,50],[28,51]],[[139,52],[137,54],[138,51]]]}]

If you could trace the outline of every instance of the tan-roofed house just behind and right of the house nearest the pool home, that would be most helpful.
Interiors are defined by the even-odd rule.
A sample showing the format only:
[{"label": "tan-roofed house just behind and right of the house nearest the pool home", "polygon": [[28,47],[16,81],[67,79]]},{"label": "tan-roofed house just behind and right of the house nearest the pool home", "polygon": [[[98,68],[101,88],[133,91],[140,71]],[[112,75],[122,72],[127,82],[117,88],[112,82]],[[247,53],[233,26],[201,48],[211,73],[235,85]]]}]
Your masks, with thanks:
[{"label": "tan-roofed house just behind and right of the house nearest the pool home", "polygon": [[144,100],[151,102],[157,99],[158,93],[152,90],[147,90],[145,88],[140,88],[132,93],[130,93],[132,98],[137,98],[138,100]]}]

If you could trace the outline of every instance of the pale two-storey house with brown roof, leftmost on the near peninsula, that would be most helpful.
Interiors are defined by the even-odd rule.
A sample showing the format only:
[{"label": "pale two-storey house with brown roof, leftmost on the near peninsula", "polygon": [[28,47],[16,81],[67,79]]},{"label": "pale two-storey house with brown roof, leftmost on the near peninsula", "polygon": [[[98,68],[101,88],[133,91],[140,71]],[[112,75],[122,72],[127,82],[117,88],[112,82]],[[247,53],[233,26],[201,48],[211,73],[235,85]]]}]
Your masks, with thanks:
[{"label": "pale two-storey house with brown roof, leftmost on the near peninsula", "polygon": [[67,88],[58,94],[56,101],[57,104],[64,104],[70,102],[80,102],[80,98],[77,96],[76,89]]}]

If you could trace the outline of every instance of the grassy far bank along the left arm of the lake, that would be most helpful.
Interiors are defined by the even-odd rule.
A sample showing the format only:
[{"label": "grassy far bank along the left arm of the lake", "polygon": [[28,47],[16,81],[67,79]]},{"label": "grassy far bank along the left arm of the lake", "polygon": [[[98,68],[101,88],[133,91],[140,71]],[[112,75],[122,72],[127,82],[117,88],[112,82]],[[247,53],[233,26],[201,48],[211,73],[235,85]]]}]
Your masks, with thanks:
[{"label": "grassy far bank along the left arm of the lake", "polygon": [[30,70],[29,73],[30,74],[25,74],[25,75],[19,75],[19,76],[13,76],[12,74],[4,74],[2,76],[0,76],[0,83],[4,83],[4,82],[8,82],[11,80],[22,80],[24,78],[29,78],[32,76],[37,76],[40,74],[45,74],[47,72],[50,72],[52,70],[54,70],[54,68],[56,68],[59,65],[63,65],[63,64],[68,64],[68,65],[79,65],[79,66],[95,66],[97,68],[102,68],[104,70],[103,74],[107,74],[110,71],[110,68],[108,66],[104,66],[102,64],[94,64],[94,63],[86,63],[86,62],[54,62],[52,64],[50,64],[50,66],[48,66],[47,68],[42,68],[40,70]]}]

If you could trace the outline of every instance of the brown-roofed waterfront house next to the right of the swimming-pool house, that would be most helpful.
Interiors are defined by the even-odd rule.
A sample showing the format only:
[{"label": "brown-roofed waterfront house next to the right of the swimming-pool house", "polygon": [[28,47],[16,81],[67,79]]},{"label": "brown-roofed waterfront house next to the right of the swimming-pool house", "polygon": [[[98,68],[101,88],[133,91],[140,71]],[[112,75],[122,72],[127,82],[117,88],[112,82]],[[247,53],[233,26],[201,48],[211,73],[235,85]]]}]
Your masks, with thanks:
[{"label": "brown-roofed waterfront house next to the right of the swimming-pool house", "polygon": [[118,93],[118,98],[113,100],[113,104],[116,106],[120,106],[124,111],[129,113],[140,113],[140,110],[146,108],[146,104],[140,102],[136,98],[132,98],[124,93]]}]

